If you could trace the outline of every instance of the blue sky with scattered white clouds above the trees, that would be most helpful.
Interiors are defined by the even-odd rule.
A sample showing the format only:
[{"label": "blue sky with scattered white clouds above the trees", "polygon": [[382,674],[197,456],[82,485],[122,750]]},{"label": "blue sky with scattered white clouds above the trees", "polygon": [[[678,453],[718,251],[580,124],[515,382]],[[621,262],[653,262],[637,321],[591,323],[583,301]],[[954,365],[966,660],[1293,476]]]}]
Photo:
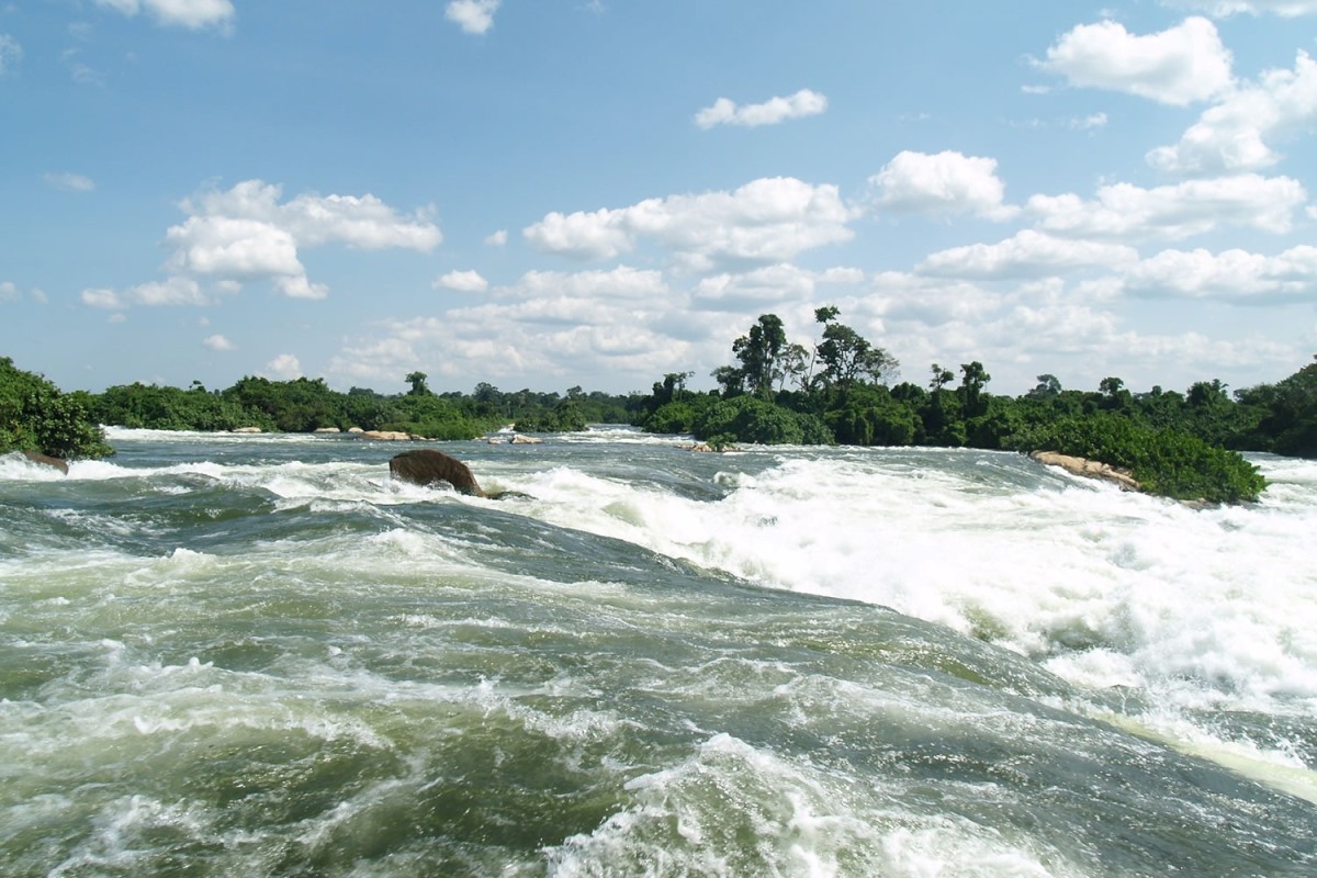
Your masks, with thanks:
[{"label": "blue sky with scattered white clouds above the trees", "polygon": [[1317,354],[1317,0],[0,0],[0,355],[63,390]]}]

